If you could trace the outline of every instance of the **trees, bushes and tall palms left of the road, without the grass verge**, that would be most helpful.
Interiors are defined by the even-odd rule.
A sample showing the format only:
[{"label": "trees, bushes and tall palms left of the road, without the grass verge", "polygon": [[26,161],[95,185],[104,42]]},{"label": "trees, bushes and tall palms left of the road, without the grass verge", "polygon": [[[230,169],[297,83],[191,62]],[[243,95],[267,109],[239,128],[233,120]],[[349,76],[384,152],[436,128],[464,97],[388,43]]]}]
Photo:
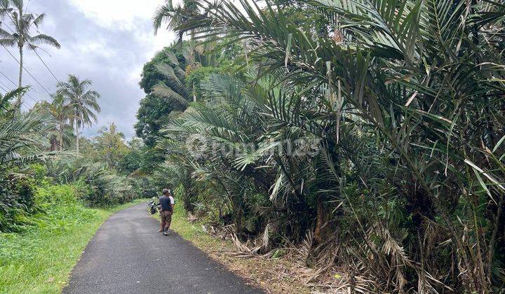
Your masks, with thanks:
[{"label": "trees, bushes and tall palms left of the road, without the grass verge", "polygon": [[58,211],[55,207],[67,199],[40,197],[48,189],[69,188],[55,195],[89,207],[110,207],[142,195],[135,190],[139,182],[129,177],[127,156],[141,148],[138,141],[127,144],[114,123],[95,138],[81,138],[83,127],[93,125],[100,112],[100,94],[91,80],[69,75],[50,97],[40,97],[46,99],[32,108],[25,104],[29,86],[22,86],[23,50],[38,54],[41,44],[60,44],[39,31],[46,15],[27,13],[24,7],[23,1],[0,1],[2,20],[8,20],[1,23],[0,44],[20,50],[19,87],[0,94],[0,232],[24,231],[36,225],[32,216]]}]

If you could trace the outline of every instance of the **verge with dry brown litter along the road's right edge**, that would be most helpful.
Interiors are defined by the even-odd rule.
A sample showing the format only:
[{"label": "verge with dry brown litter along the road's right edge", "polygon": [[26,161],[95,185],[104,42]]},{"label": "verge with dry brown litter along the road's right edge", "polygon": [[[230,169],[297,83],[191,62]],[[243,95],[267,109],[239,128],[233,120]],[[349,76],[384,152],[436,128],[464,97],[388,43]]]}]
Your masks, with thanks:
[{"label": "verge with dry brown litter along the road's right edge", "polygon": [[[157,216],[155,214],[154,216]],[[238,276],[243,277],[253,286],[264,289],[267,293],[310,293],[311,289],[304,286],[291,272],[292,262],[286,259],[248,257],[234,254],[235,247],[228,239],[222,240],[206,233],[201,224],[190,223],[183,209],[175,209],[171,228],[194,246],[205,251],[222,265],[225,265]]]}]

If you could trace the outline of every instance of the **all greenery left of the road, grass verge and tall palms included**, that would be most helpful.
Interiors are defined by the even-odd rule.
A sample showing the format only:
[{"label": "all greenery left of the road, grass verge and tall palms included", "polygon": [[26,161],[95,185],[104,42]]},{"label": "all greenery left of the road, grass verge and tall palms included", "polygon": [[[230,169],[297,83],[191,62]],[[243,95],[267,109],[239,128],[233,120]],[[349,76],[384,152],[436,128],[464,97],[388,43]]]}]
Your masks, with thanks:
[{"label": "all greenery left of the road, grass verge and tall palms included", "polygon": [[20,65],[18,87],[0,94],[0,292],[58,293],[100,224],[143,195],[130,176],[143,144],[114,123],[82,137],[100,112],[91,80],[69,75],[52,95],[32,97],[23,55],[60,44],[41,33],[46,15],[26,8],[0,1],[0,45],[17,48]]}]

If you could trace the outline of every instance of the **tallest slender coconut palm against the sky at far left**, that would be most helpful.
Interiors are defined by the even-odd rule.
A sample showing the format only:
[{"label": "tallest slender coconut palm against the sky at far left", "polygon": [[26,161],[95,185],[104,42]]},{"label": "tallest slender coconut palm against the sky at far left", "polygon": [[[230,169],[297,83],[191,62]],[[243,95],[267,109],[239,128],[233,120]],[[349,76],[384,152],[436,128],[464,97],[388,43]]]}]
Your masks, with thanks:
[{"label": "tallest slender coconut palm against the sky at far left", "polygon": [[[38,32],[46,13],[34,15],[23,11],[23,0],[1,1],[1,13],[8,16],[13,26],[12,34],[0,27],[0,45],[17,47],[20,54],[19,82],[18,87],[22,87],[23,71],[23,49],[39,49],[39,45],[47,44],[55,48],[60,48],[60,43],[52,36],[46,34],[36,34],[32,36],[32,30]],[[11,6],[12,5],[12,6]]]}]

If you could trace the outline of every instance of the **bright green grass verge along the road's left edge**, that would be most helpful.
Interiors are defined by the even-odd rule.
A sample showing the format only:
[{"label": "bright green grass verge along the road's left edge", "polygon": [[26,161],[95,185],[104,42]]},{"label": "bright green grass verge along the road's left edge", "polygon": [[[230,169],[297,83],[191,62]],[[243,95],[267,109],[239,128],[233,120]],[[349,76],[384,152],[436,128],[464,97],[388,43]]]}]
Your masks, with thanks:
[{"label": "bright green grass verge along the road's left edge", "polygon": [[0,234],[0,293],[60,293],[100,225],[137,202],[111,209],[63,204],[33,216],[36,225],[25,232]]}]

